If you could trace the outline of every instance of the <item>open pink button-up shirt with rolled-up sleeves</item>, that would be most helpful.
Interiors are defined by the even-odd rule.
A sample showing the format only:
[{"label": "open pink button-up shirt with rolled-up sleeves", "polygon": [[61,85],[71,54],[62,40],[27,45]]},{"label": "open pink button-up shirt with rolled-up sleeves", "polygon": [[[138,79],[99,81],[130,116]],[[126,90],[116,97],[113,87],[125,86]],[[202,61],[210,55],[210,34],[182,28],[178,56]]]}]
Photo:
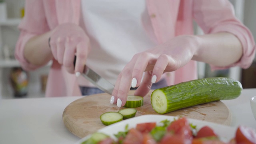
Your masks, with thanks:
[{"label": "open pink button-up shirt with rolled-up sleeves", "polygon": [[[240,66],[248,68],[255,56],[255,43],[251,32],[234,16],[232,4],[228,0],[146,0],[154,35],[159,44],[174,36],[194,34],[193,20],[205,34],[230,32],[238,37],[243,46],[242,58],[226,67],[212,66],[212,70]],[[25,70],[35,70],[38,66],[24,58],[24,45],[33,36],[54,29],[59,24],[80,21],[80,0],[26,0],[26,13],[19,25],[20,37],[16,44],[15,57]],[[145,25],[147,30],[147,24]],[[197,65],[191,60],[175,72],[165,74],[169,85],[197,79]],[[69,74],[56,60],[53,60],[46,96],[81,95],[74,74]]]}]

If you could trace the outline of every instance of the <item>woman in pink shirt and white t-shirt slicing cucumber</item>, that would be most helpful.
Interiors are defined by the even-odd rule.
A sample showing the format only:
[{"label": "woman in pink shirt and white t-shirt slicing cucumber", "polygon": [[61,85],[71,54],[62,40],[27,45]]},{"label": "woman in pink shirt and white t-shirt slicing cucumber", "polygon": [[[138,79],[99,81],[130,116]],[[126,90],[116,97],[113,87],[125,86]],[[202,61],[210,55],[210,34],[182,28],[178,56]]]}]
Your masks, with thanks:
[{"label": "woman in pink shirt and white t-shirt slicing cucumber", "polygon": [[[120,107],[130,87],[145,96],[159,81],[197,79],[196,61],[248,68],[255,56],[253,36],[228,0],[26,0],[25,8],[15,56],[25,70],[53,60],[46,96],[93,87],[74,74],[86,64],[115,84],[110,103]],[[193,20],[204,35],[193,35]]]}]

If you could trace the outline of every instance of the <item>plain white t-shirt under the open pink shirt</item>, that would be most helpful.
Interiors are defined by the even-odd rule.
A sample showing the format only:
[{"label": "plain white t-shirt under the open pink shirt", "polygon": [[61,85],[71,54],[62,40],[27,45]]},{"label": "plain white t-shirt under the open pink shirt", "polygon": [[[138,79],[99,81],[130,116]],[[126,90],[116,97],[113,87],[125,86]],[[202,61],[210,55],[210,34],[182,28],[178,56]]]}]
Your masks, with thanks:
[{"label": "plain white t-shirt under the open pink shirt", "polygon": [[[81,6],[81,27],[92,47],[86,64],[115,84],[134,54],[156,46],[143,27],[150,22],[145,0],[81,0]],[[78,82],[94,86],[82,77]]]}]

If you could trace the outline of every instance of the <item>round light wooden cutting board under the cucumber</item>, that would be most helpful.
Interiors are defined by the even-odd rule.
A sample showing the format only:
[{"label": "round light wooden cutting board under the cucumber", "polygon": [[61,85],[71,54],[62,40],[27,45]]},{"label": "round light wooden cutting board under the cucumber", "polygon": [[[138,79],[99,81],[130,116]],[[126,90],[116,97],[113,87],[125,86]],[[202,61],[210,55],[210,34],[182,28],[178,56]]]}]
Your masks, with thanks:
[{"label": "round light wooden cutting board under the cucumber", "polygon": [[[129,95],[134,94],[134,90]],[[152,91],[144,97],[144,105],[136,108],[136,116],[145,114],[158,114],[152,108],[150,95]],[[116,104],[110,104],[111,96],[106,93],[84,96],[70,103],[63,112],[63,121],[74,135],[83,138],[88,134],[96,132],[105,126],[100,121],[100,115],[104,112],[118,112],[120,108]],[[170,112],[169,116],[186,116],[197,120],[204,120],[218,124],[230,125],[231,114],[226,105],[220,101],[210,102],[181,110]]]}]

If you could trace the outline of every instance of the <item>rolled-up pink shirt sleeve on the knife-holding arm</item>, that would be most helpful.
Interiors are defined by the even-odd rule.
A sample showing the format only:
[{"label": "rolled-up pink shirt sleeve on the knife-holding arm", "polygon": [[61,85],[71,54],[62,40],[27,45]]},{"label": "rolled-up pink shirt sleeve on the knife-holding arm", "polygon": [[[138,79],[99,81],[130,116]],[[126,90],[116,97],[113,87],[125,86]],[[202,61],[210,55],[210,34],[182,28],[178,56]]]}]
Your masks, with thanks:
[{"label": "rolled-up pink shirt sleeve on the knife-holding arm", "polygon": [[18,28],[20,35],[16,43],[14,56],[24,70],[35,70],[40,66],[31,64],[26,60],[24,57],[24,46],[30,38],[49,31],[42,0],[25,1],[25,16],[22,18]]}]

